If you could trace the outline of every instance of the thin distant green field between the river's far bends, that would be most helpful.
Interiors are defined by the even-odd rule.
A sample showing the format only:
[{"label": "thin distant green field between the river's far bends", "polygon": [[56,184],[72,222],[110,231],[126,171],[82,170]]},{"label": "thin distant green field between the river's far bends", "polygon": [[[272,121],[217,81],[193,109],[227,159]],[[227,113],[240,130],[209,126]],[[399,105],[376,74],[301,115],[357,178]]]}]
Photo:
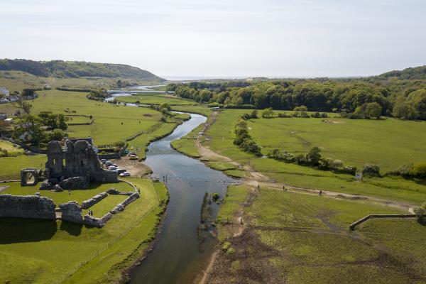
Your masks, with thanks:
[{"label": "thin distant green field between the river's far bends", "polygon": [[163,104],[170,105],[195,105],[197,102],[190,99],[180,99],[168,94],[134,94],[128,97],[116,97],[118,102],[140,103],[140,104]]}]

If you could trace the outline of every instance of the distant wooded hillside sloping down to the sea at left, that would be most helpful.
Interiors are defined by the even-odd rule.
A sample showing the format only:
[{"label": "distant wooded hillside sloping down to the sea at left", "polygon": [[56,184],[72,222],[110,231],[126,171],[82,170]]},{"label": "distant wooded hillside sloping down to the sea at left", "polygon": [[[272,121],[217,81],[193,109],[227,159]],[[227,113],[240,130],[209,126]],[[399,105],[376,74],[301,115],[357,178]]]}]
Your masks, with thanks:
[{"label": "distant wooded hillside sloping down to the sea at left", "polygon": [[0,60],[2,71],[23,71],[38,77],[80,78],[80,77],[121,77],[138,80],[160,80],[151,72],[129,65],[93,63],[84,61],[33,61],[25,59]]}]

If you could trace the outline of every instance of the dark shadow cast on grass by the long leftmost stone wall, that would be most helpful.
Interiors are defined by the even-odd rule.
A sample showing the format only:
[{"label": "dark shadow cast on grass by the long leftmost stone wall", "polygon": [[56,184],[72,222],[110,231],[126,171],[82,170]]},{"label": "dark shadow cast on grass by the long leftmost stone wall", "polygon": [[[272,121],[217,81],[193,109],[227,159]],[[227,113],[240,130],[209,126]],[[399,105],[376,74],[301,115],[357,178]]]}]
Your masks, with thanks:
[{"label": "dark shadow cast on grass by the long leftmost stone wall", "polygon": [[47,241],[52,239],[57,229],[55,220],[0,219],[0,244]]}]

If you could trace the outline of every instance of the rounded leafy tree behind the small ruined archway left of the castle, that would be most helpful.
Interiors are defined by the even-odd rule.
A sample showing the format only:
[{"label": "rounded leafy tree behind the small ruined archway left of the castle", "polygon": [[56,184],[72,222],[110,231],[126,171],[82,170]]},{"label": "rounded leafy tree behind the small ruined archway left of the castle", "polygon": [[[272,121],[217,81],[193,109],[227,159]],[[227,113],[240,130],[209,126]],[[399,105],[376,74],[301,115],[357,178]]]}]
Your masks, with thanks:
[{"label": "rounded leafy tree behind the small ruined archway left of the castle", "polygon": [[26,139],[33,145],[40,146],[40,141],[43,141],[46,137],[46,131],[43,129],[43,121],[31,114],[23,116],[13,131],[15,138],[22,135],[26,136]]}]

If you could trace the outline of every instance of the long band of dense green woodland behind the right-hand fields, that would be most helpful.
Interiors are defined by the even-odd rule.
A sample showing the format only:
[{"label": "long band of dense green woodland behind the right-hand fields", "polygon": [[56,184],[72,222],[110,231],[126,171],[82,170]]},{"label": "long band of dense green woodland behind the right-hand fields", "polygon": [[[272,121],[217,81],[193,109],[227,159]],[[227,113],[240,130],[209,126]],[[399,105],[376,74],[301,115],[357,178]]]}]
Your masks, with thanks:
[{"label": "long band of dense green woodland behind the right-hand fields", "polygon": [[[393,115],[426,119],[426,82],[412,80],[293,80],[169,84],[178,97],[224,108],[334,111],[354,119]],[[295,109],[305,112],[305,109]]]}]

